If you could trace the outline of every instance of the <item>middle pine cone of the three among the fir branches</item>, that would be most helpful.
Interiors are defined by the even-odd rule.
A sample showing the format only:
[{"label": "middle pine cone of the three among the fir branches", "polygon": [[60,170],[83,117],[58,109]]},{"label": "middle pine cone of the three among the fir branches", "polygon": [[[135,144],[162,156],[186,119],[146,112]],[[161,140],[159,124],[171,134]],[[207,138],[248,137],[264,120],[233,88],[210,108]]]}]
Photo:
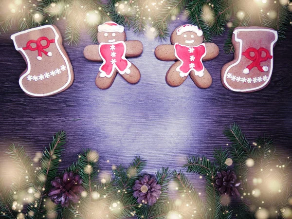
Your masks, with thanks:
[{"label": "middle pine cone of the three among the fir branches", "polygon": [[149,175],[144,175],[143,178],[140,177],[139,180],[136,180],[133,190],[133,196],[138,198],[137,202],[139,204],[153,205],[160,197],[161,185],[157,184],[154,177],[150,179]]}]

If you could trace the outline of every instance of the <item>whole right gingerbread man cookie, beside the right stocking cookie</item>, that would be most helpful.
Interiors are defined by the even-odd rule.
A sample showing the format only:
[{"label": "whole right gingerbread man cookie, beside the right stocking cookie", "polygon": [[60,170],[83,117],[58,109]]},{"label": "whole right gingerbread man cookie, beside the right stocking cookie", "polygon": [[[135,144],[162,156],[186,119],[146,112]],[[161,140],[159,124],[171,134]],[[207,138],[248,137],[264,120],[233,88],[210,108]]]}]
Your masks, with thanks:
[{"label": "whole right gingerbread man cookie, beside the right stocking cookie", "polygon": [[202,61],[215,58],[219,54],[218,46],[214,43],[203,43],[203,32],[191,24],[175,29],[170,40],[174,45],[159,45],[155,49],[155,55],[160,60],[178,60],[166,73],[167,84],[180,86],[190,75],[199,88],[210,87],[212,77]]}]

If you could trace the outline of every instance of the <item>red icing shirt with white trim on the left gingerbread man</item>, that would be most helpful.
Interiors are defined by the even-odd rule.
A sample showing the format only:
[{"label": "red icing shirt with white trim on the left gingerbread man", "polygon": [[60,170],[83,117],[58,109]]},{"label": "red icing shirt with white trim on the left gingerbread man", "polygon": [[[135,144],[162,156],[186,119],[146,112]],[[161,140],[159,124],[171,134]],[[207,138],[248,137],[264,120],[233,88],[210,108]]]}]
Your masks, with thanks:
[{"label": "red icing shirt with white trim on the left gingerbread man", "polygon": [[124,41],[114,43],[100,43],[99,55],[103,63],[99,68],[100,77],[110,78],[114,70],[118,70],[120,74],[130,73],[131,63],[126,59],[126,44]]}]

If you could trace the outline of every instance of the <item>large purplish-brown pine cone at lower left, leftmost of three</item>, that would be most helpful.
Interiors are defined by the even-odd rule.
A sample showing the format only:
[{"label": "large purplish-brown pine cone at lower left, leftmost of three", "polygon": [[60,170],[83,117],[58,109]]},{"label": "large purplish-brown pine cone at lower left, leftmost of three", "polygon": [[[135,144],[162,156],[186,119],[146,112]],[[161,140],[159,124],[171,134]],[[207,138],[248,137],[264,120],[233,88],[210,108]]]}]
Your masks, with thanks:
[{"label": "large purplish-brown pine cone at lower left, leftmost of three", "polygon": [[63,179],[55,177],[51,183],[53,188],[50,190],[49,196],[55,204],[61,203],[62,207],[68,207],[70,201],[78,202],[78,195],[83,191],[82,179],[79,175],[74,176],[73,172],[65,172]]}]

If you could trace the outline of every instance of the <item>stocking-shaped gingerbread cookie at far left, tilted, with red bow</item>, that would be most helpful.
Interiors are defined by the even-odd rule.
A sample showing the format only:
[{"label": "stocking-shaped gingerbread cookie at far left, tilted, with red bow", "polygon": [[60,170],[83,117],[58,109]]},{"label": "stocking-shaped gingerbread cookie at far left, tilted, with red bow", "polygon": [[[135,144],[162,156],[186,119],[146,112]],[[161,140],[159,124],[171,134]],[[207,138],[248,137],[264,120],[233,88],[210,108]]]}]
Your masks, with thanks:
[{"label": "stocking-shaped gingerbread cookie at far left, tilted, with red bow", "polygon": [[50,96],[68,89],[74,80],[73,68],[54,25],[45,25],[11,36],[27,68],[20,75],[20,88],[29,96]]}]

